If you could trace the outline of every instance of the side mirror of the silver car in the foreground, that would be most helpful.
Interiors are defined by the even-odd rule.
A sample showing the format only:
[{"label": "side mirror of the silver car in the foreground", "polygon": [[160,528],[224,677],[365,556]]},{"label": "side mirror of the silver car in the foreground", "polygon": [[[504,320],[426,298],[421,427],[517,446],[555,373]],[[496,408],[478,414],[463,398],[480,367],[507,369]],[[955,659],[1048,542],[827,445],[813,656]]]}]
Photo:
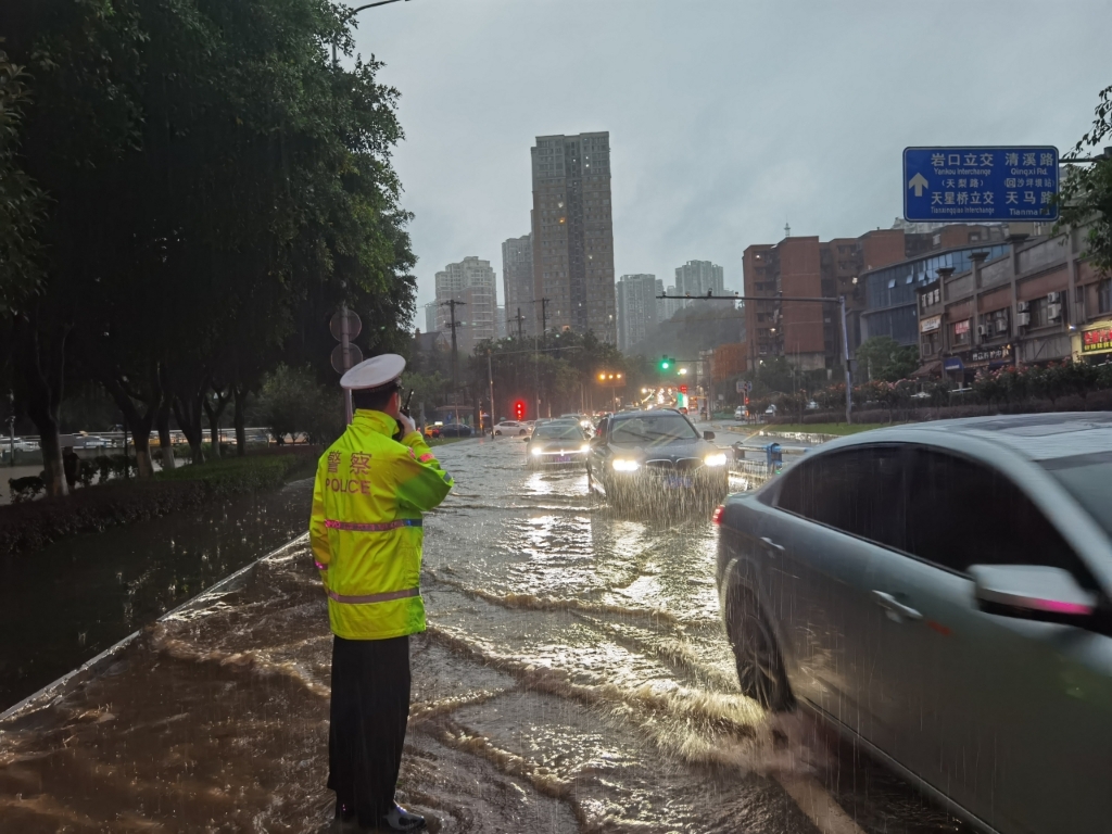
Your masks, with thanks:
[{"label": "side mirror of the silver car in the foreground", "polygon": [[1096,609],[1096,595],[1069,570],[1042,565],[971,565],[973,596],[987,614],[1076,624]]}]

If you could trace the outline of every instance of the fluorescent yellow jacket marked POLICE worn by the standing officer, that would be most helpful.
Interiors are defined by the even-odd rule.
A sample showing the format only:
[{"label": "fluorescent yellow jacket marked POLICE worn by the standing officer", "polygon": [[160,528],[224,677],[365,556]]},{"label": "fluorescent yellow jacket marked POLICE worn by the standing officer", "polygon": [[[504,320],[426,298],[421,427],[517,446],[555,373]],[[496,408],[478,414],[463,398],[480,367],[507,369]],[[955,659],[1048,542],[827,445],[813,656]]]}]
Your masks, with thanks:
[{"label": "fluorescent yellow jacket marked POLICE worn by the standing officer", "polygon": [[421,513],[453,481],[419,431],[398,443],[396,430],[381,411],[356,411],[317,464],[309,538],[332,633],[347,639],[425,631]]}]

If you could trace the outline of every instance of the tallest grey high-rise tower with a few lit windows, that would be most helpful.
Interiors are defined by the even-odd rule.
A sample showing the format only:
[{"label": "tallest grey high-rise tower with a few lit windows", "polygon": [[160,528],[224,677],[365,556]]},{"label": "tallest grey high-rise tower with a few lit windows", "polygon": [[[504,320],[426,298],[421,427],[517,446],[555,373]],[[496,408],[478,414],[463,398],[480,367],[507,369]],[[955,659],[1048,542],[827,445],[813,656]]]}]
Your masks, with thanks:
[{"label": "tallest grey high-rise tower with a few lit windows", "polygon": [[609,133],[538,136],[532,156],[534,321],[614,344]]}]

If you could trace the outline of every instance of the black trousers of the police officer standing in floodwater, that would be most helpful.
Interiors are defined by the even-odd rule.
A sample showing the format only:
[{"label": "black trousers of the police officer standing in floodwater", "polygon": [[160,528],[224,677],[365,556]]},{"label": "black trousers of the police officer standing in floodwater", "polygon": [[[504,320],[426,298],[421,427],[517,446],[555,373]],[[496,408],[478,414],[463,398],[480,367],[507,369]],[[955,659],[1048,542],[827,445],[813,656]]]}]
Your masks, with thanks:
[{"label": "black trousers of the police officer standing in floodwater", "polygon": [[332,637],[328,787],[371,825],[394,807],[409,719],[409,637]]}]

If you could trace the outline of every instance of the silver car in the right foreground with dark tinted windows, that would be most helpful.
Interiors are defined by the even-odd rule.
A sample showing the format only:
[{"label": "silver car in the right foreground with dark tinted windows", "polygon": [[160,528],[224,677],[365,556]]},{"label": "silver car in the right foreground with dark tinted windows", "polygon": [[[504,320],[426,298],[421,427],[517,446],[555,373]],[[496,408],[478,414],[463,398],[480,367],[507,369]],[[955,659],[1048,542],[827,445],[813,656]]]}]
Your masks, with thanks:
[{"label": "silver car in the right foreground with dark tinted windows", "polygon": [[743,692],[984,831],[1112,831],[1112,415],[867,431],[715,520]]}]

